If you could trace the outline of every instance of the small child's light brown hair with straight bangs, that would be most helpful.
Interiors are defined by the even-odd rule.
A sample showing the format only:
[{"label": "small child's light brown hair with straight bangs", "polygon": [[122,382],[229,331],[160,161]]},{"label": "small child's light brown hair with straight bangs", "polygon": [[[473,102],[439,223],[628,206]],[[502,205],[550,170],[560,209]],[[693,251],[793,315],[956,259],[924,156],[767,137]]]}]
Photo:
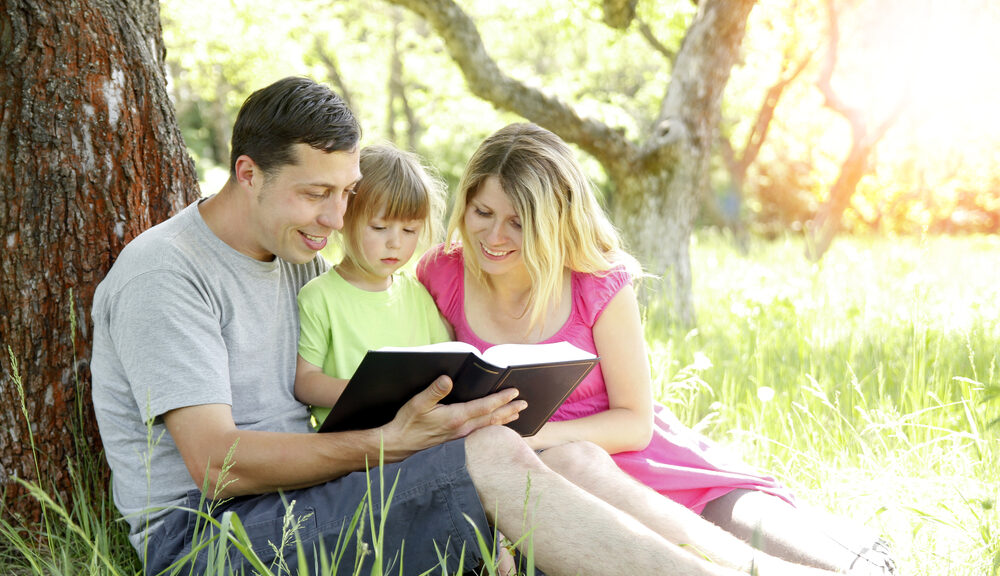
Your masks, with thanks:
[{"label": "small child's light brown hair with straight bangs", "polygon": [[439,238],[444,215],[445,186],[419,156],[392,144],[372,144],[361,149],[361,181],[344,212],[344,258],[373,272],[361,249],[361,232],[383,211],[386,220],[423,220],[420,245]]}]

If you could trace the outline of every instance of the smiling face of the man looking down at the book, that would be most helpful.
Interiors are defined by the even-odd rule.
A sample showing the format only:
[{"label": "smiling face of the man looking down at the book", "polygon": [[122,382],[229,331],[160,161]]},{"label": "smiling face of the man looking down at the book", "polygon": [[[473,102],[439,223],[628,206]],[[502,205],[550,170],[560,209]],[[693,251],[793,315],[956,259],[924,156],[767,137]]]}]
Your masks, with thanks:
[{"label": "smiling face of the man looking down at the book", "polygon": [[296,144],[298,161],[263,178],[251,200],[251,256],[302,264],[344,225],[347,202],[361,179],[359,151],[324,152]]}]

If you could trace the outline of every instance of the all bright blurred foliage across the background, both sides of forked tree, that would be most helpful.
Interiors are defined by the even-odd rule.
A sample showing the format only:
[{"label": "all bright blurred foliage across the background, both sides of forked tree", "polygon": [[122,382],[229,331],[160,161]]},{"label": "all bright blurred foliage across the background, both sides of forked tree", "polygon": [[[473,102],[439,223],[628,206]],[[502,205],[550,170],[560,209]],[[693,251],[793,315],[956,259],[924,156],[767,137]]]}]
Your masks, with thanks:
[{"label": "all bright blurred foliage across the background, both sides of forked tree", "polygon": [[[1000,16],[981,3],[959,0],[944,14],[937,7],[919,18],[900,0],[836,3],[842,38],[834,80],[844,99],[874,127],[912,89],[844,216],[848,231],[1000,230],[1000,114],[984,101],[1000,86],[982,72],[984,62],[1000,57],[989,32]],[[460,4],[506,74],[634,141],[649,134],[671,67],[641,27],[676,53],[697,10],[686,0],[640,2],[637,20],[619,31],[604,25],[597,0]],[[518,120],[472,96],[437,34],[384,2],[162,0],[161,15],[171,94],[200,178],[211,181],[206,192],[217,188],[216,167],[228,163],[229,127],[243,99],[289,74],[326,81],[349,96],[365,143],[412,142],[452,186],[482,139]],[[742,216],[768,235],[800,230],[814,217],[850,144],[847,121],[824,106],[815,86],[825,18],[819,0],[759,2],[726,90],[721,130],[739,152],[782,65],[811,57],[784,92],[745,184]],[[390,98],[393,46],[409,117]],[[597,166],[588,168],[604,180]],[[717,169],[717,194],[731,200],[730,186]]]}]

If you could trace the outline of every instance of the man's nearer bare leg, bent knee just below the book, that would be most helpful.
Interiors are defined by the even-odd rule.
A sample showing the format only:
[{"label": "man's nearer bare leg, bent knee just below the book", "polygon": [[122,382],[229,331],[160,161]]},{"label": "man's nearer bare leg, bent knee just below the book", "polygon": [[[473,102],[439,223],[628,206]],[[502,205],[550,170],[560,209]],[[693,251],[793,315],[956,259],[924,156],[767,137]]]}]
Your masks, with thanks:
[{"label": "man's nearer bare leg, bent knee just below the book", "polygon": [[465,446],[469,476],[487,517],[513,541],[530,529],[536,563],[547,574],[743,574],[685,551],[581,490],[542,464],[508,428],[477,430]]}]

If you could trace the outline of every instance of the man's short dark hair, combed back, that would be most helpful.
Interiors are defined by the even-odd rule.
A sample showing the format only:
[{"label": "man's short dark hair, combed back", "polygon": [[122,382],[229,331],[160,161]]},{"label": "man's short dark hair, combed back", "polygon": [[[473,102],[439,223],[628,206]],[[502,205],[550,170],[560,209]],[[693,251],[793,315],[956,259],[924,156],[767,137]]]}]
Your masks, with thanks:
[{"label": "man's short dark hair, combed back", "polygon": [[289,76],[243,102],[233,125],[229,174],[236,174],[236,159],[244,154],[267,174],[295,163],[295,144],[342,152],[360,140],[361,125],[340,96],[309,78]]}]

